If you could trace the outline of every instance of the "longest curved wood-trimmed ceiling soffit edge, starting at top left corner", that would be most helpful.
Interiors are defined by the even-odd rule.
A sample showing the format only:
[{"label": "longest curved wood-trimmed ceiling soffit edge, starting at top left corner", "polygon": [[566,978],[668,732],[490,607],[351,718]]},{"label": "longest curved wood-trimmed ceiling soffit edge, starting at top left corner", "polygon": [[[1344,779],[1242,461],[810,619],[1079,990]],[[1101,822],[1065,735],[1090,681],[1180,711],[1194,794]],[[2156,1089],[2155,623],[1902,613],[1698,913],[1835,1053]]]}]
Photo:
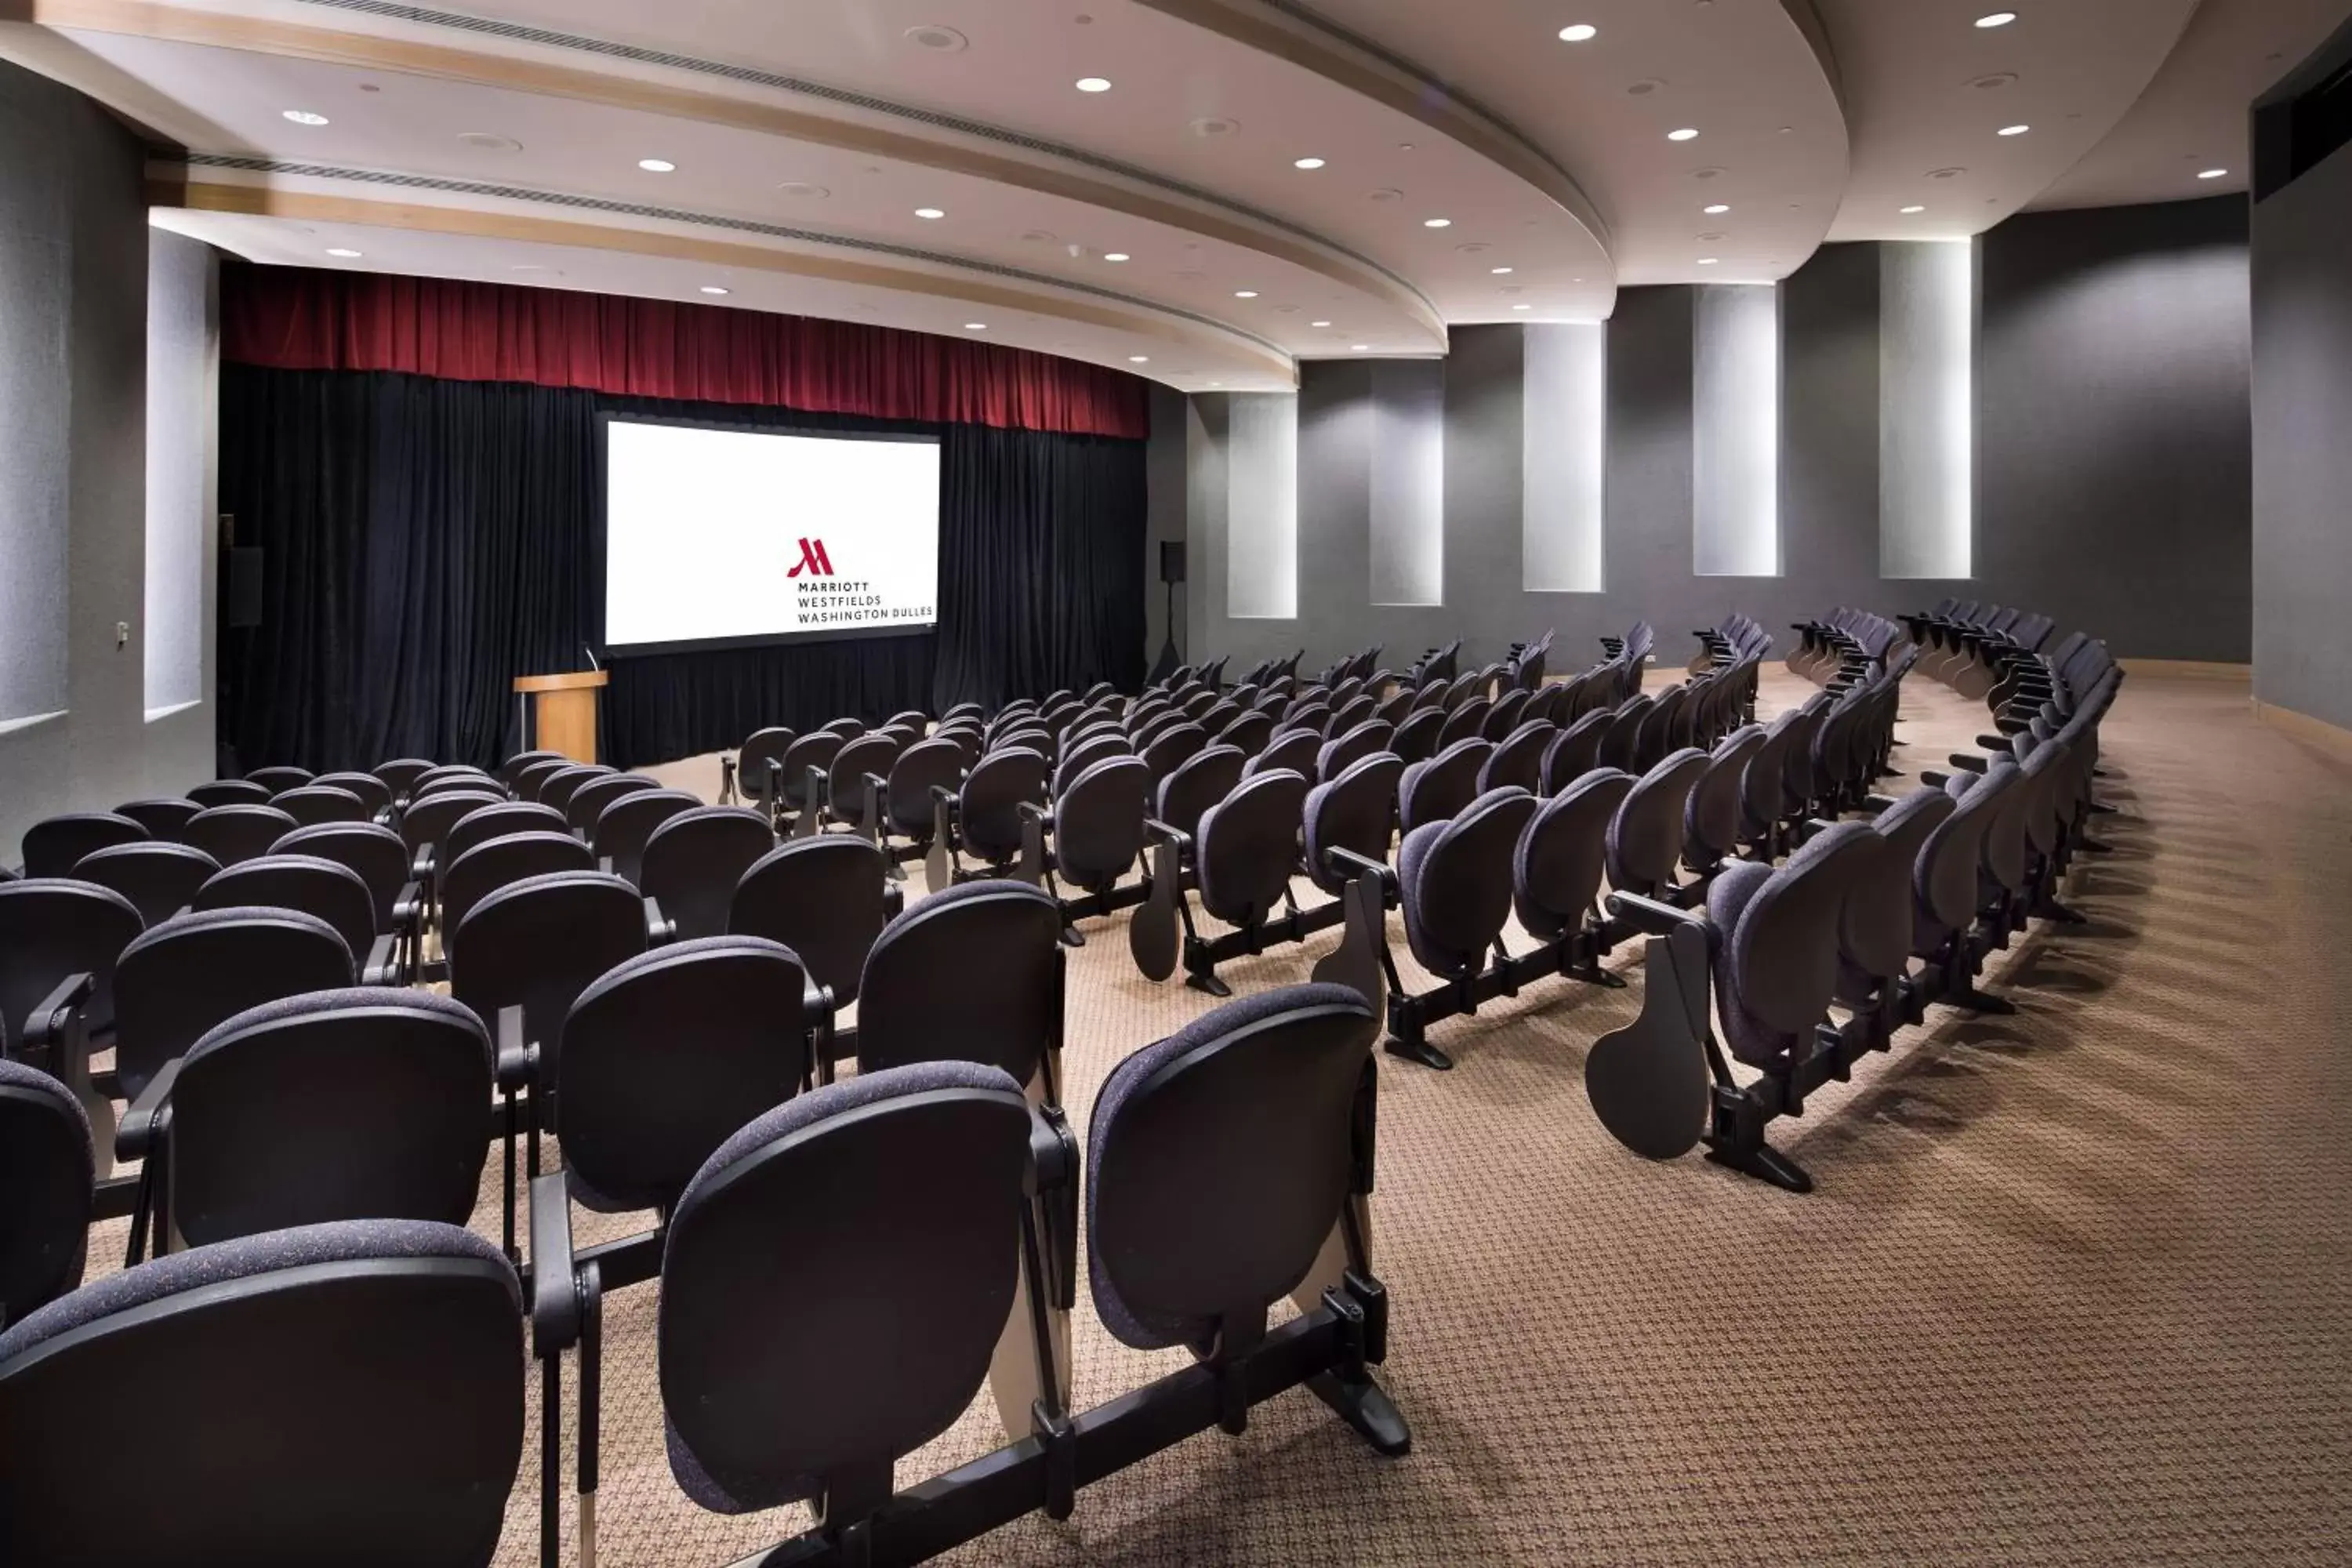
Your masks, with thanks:
[{"label": "longest curved wood-trimmed ceiling soffit edge, starting at top left corner", "polygon": [[[1446,339],[1446,324],[1437,306],[1411,280],[1399,277],[1378,261],[1244,202],[1221,197],[1211,190],[1202,190],[1084,148],[1025,136],[1021,132],[1009,132],[978,120],[891,103],[870,94],[844,92],[781,73],[729,66],[724,61],[708,61],[687,54],[668,54],[661,49],[612,45],[579,33],[496,24],[480,16],[466,16],[461,12],[383,5],[381,0],[296,2],[414,26],[442,26],[470,38],[494,38],[550,52],[572,52],[600,61],[628,59],[659,71],[701,75],[736,89],[750,87],[814,99],[844,110],[875,115],[898,127],[922,129],[894,129],[894,125],[870,125],[863,120],[762,103],[739,96],[736,92],[699,92],[644,78],[616,75],[612,71],[527,59],[520,54],[459,49],[388,38],[381,33],[308,28],[226,12],[151,5],[148,0],[28,0],[24,9],[28,12],[28,21],[42,28],[118,33],[155,42],[278,54],[329,66],[395,71],[477,87],[534,92],[543,96],[602,103],[609,108],[630,108],[680,120],[724,125],[731,129],[790,136],[795,141],[809,141],[870,158],[891,158],[953,174],[969,174],[1002,186],[1035,190],[1040,195],[1122,212],[1134,219],[1164,223],[1169,228],[1190,230],[1268,254],[1277,261],[1329,277],[1341,287],[1371,294],[1414,320],[1414,324],[1439,343]],[[955,136],[955,141],[943,139],[936,132],[946,132],[948,136]],[[990,153],[971,143],[1016,148],[1021,153],[1030,153],[1033,158],[1049,158],[1070,167],[1030,162],[1011,153]],[[1091,169],[1091,174],[1082,169]],[[1228,327],[1228,331],[1232,329]]]}]

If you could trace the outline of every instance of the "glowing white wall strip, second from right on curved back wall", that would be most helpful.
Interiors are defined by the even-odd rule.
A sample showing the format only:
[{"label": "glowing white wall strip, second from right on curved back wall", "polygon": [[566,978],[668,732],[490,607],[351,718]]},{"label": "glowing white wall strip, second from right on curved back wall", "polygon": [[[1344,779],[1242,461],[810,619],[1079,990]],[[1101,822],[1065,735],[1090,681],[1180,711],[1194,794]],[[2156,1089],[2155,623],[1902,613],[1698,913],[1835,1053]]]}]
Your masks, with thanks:
[{"label": "glowing white wall strip, second from right on curved back wall", "polygon": [[1780,576],[1780,289],[1698,289],[1691,571]]}]

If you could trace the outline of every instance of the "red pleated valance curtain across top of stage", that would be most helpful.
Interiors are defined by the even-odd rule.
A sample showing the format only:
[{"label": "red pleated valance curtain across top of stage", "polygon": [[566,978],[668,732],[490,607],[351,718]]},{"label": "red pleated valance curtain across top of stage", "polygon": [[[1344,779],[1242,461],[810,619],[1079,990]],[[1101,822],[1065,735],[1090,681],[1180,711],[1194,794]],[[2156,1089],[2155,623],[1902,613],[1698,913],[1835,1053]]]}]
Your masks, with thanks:
[{"label": "red pleated valance curtain across top of stage", "polygon": [[1124,371],[922,331],[567,289],[280,266],[221,270],[221,353],[927,423],[1150,435]]}]

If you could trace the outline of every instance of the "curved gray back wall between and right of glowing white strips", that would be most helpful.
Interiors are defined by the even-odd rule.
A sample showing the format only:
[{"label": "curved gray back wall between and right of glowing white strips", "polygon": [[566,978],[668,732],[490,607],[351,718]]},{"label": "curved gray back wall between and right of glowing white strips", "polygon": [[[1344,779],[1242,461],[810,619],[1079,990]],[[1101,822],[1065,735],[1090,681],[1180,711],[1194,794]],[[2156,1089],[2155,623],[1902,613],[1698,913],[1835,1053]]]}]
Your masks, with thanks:
[{"label": "curved gray back wall between and right of glowing white strips", "polygon": [[1188,409],[1192,651],[1249,663],[1305,646],[1324,663],[1381,642],[1395,663],[1463,635],[1484,658],[1557,628],[1564,663],[1649,618],[1679,658],[1689,628],[1733,609],[1785,628],[1832,604],[1896,614],[1957,595],[2042,609],[2119,656],[2244,661],[2244,202],[2023,216],[1980,240],[1978,268],[1969,581],[1879,581],[1879,247],[1832,244],[1783,284],[1783,576],[1691,571],[1696,294],[1625,289],[1609,322],[1604,592],[1522,590],[1524,334],[1465,327],[1444,362],[1446,604],[1367,604],[1374,378],[1310,362],[1296,623],[1223,616],[1225,400]]}]

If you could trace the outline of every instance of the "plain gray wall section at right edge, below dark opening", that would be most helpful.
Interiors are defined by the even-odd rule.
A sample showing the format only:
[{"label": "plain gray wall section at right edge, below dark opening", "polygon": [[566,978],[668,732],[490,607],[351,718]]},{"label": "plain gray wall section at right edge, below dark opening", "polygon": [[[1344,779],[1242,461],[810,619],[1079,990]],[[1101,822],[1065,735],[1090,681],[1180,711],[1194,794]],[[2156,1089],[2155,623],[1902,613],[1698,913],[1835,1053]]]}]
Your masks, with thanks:
[{"label": "plain gray wall section at right edge, below dark opening", "polygon": [[2352,146],[2253,209],[2253,696],[2352,726]]}]

